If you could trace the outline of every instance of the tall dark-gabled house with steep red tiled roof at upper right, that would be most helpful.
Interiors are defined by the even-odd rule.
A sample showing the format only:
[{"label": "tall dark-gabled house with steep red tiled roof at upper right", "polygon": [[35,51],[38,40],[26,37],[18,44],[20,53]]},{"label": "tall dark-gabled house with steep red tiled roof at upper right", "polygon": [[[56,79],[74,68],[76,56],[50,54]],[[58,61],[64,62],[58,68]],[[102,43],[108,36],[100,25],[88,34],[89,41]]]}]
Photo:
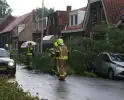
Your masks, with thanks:
[{"label": "tall dark-gabled house with steep red tiled roof at upper right", "polygon": [[[100,25],[103,21],[108,25],[116,24],[123,8],[124,0],[89,0],[83,30],[91,36],[94,26]],[[93,34],[101,35],[99,33],[100,31]]]}]

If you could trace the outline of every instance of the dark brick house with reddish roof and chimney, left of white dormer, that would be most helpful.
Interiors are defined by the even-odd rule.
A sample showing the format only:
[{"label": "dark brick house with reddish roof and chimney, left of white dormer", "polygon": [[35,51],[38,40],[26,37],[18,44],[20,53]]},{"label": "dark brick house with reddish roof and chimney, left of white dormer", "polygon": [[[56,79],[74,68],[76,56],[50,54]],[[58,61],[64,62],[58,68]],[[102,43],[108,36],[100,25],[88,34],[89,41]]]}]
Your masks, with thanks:
[{"label": "dark brick house with reddish roof and chimney, left of white dormer", "polygon": [[68,25],[69,12],[71,6],[67,6],[66,11],[56,11],[48,16],[46,35],[61,35],[61,31]]}]

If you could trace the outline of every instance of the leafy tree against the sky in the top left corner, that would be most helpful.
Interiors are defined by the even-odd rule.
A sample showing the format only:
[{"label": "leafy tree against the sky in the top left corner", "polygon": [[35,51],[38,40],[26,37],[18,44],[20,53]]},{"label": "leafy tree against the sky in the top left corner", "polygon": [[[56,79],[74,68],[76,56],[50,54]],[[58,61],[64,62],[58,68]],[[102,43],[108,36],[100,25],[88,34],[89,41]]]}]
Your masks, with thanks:
[{"label": "leafy tree against the sky in the top left corner", "polygon": [[0,0],[0,17],[4,17],[12,12],[6,0]]}]

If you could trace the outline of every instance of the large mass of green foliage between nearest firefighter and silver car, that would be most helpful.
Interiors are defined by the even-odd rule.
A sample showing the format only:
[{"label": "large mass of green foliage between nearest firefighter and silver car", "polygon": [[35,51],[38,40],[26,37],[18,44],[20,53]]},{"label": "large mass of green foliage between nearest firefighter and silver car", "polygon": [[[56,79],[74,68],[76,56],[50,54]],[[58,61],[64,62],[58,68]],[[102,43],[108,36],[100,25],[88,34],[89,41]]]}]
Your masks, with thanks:
[{"label": "large mass of green foliage between nearest firefighter and silver car", "polygon": [[[98,31],[99,28],[97,28],[94,31]],[[84,74],[89,62],[100,52],[124,53],[124,33],[120,29],[116,28],[115,25],[108,27],[104,24],[104,31],[102,30],[102,32],[105,32],[108,40],[96,41],[84,37],[74,37],[70,41],[70,66],[76,71],[76,74]]]}]

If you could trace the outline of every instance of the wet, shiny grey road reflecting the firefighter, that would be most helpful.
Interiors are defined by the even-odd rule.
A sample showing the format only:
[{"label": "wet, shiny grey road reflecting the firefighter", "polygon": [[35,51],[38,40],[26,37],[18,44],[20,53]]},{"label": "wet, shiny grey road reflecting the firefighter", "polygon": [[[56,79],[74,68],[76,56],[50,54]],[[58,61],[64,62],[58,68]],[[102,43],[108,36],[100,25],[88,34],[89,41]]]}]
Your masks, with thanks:
[{"label": "wet, shiny grey road reflecting the firefighter", "polygon": [[25,91],[48,100],[124,100],[124,81],[68,76],[57,78],[17,68],[16,80]]}]

